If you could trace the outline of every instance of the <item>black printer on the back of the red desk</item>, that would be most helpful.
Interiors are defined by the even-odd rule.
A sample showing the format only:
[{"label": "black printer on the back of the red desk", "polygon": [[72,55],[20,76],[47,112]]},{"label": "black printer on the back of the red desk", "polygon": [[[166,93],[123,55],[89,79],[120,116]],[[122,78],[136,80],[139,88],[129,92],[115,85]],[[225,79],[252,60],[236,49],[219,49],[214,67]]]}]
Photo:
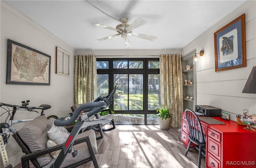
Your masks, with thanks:
[{"label": "black printer on the back of the red desk", "polygon": [[221,109],[208,105],[195,105],[195,113],[198,116],[219,117]]}]

